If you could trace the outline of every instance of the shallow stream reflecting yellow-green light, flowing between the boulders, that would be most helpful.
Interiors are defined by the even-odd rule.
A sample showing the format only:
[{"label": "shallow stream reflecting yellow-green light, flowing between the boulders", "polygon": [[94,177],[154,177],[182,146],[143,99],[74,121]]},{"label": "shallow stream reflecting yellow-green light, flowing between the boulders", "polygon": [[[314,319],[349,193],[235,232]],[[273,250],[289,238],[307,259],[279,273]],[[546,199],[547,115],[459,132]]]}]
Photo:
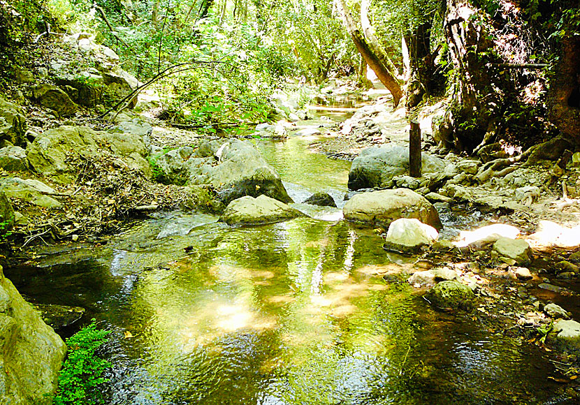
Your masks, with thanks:
[{"label": "shallow stream reflecting yellow-green light, flowing between the boulders", "polygon": [[339,208],[245,228],[159,213],[5,269],[31,300],[113,331],[109,404],[565,403],[545,352],[434,311],[405,281],[413,258],[342,220],[350,162],[308,152],[310,137],[255,142],[295,201],[327,191]]}]

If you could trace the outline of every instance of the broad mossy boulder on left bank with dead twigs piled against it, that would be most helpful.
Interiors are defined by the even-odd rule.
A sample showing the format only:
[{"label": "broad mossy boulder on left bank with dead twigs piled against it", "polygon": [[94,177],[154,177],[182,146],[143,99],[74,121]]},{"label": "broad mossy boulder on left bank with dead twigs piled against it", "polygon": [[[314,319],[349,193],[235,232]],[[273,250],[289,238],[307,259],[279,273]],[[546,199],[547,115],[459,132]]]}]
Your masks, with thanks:
[{"label": "broad mossy boulder on left bank with dead twigs piled against it", "polygon": [[59,126],[38,135],[27,148],[27,157],[36,172],[60,184],[78,177],[78,165],[98,159],[103,152],[117,155],[129,168],[151,176],[147,162],[149,149],[139,133],[93,131],[82,126]]}]

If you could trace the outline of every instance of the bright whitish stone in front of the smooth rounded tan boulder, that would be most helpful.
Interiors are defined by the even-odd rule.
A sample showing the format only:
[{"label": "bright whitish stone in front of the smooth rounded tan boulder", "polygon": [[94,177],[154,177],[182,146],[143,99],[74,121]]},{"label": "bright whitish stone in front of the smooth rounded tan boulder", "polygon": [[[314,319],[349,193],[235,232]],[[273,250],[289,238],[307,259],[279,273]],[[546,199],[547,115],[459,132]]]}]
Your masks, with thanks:
[{"label": "bright whitish stone in front of the smooth rounded tan boulder", "polygon": [[385,249],[395,251],[418,251],[421,246],[433,244],[439,237],[433,226],[419,219],[400,218],[391,222],[385,238]]}]

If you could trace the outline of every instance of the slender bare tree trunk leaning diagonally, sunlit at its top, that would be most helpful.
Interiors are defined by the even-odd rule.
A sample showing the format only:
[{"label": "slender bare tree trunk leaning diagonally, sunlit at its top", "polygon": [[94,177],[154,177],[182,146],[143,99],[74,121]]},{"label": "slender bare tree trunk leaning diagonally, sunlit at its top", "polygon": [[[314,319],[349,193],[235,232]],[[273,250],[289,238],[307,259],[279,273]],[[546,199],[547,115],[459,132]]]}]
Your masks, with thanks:
[{"label": "slender bare tree trunk leaning diagonally, sunlit at its top", "polygon": [[384,84],[386,89],[391,91],[396,107],[399,104],[401,97],[403,97],[403,90],[400,87],[398,79],[389,72],[389,69],[384,66],[381,59],[379,59],[377,54],[372,50],[372,47],[368,44],[365,36],[354,23],[350,11],[345,4],[345,0],[335,0],[335,4],[338,13],[342,17],[342,22],[344,22],[345,27],[352,38],[354,46],[356,46],[358,52],[365,59],[368,66],[375,72],[377,78],[379,78],[382,84]]}]

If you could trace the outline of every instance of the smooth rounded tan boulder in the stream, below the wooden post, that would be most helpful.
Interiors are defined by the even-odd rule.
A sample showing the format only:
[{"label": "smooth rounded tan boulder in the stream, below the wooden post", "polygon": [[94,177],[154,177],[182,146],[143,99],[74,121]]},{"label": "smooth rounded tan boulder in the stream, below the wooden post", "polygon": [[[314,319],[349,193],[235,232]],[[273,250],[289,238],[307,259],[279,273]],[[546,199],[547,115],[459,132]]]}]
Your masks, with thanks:
[{"label": "smooth rounded tan boulder in the stream, below the wooden post", "polygon": [[437,230],[443,227],[433,204],[409,189],[356,194],[347,201],[342,212],[349,221],[371,226],[386,228],[397,219],[414,218]]}]

